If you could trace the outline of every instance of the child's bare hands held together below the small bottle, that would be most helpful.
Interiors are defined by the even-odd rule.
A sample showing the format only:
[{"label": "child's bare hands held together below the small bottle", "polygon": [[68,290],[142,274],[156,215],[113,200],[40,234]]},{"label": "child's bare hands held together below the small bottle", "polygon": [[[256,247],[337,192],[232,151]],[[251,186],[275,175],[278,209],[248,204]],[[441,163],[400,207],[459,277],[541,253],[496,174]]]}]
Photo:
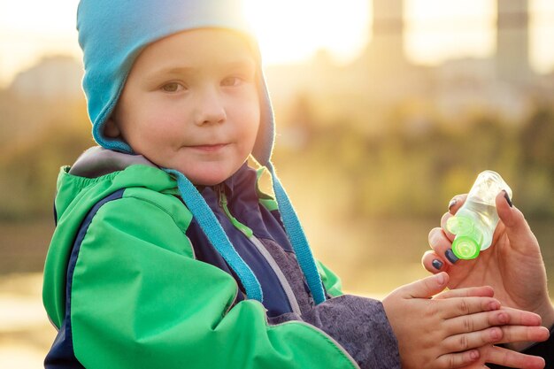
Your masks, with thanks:
[{"label": "child's bare hands held together below the small bottle", "polygon": [[[519,365],[520,361],[527,359],[528,363],[542,360],[504,349],[501,350],[505,352],[498,355],[491,345],[545,340],[548,338],[546,328],[531,327],[540,325],[539,317],[526,311],[499,310],[500,304],[492,297],[491,288],[447,291],[431,299],[446,287],[448,281],[446,273],[439,273],[397,288],[383,300],[398,340],[404,369],[464,367],[481,362],[483,355],[490,363],[504,365]],[[496,356],[491,354],[493,350]],[[541,367],[531,364],[520,367]]]}]

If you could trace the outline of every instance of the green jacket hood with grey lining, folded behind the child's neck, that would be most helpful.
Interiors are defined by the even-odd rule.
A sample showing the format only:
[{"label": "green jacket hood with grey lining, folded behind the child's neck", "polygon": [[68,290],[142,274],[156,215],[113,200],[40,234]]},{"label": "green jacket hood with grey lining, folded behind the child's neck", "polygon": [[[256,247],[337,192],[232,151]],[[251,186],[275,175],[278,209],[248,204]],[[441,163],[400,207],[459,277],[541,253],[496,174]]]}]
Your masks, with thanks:
[{"label": "green jacket hood with grey lining, folded behind the child's neck", "polygon": [[150,188],[177,195],[176,182],[145,158],[95,147],[58,174],[55,200],[57,227],[44,267],[42,299],[55,324],[65,311],[65,280],[73,243],[88,212],[123,188]]}]

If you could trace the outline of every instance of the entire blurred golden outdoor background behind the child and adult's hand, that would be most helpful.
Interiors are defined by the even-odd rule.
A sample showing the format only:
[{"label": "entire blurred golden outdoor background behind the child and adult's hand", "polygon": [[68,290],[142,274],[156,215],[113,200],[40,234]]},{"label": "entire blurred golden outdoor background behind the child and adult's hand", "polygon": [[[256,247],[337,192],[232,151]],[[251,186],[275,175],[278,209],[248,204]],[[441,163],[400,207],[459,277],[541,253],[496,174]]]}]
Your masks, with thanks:
[{"label": "entire blurred golden outdoor background behind the child and adult's hand", "polygon": [[[427,275],[429,230],[485,169],[511,185],[553,280],[554,3],[246,3],[274,162],[346,291],[379,297]],[[77,4],[0,0],[0,367],[40,367],[55,336],[41,272],[56,177],[94,145]]]}]

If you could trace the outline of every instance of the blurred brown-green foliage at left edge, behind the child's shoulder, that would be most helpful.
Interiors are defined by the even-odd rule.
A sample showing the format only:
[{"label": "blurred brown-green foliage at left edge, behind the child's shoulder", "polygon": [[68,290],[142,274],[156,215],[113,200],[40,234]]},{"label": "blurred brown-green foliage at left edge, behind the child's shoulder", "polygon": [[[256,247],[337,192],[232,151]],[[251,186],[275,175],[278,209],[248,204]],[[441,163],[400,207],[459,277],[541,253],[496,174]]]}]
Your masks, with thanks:
[{"label": "blurred brown-green foliage at left edge, behind the child's shoulder", "polygon": [[[19,102],[20,109],[36,106]],[[94,144],[81,100],[42,102],[43,119],[32,123],[19,114],[12,117],[10,140],[0,148],[0,219],[23,220],[51,214],[56,178],[61,165],[73,163]],[[58,110],[59,105],[64,106]],[[52,118],[54,117],[54,118]]]}]

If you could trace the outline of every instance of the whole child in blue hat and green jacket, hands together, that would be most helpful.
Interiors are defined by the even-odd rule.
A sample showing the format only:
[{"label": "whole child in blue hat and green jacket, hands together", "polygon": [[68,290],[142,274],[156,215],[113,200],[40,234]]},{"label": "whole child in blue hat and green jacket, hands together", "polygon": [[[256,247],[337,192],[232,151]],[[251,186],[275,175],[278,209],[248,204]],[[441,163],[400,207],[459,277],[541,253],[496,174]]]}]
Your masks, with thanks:
[{"label": "whole child in blue hat and green jacket, hands together", "polygon": [[446,273],[383,304],[342,295],[269,161],[271,104],[235,1],[82,0],[78,29],[103,148],[59,175],[46,367],[450,368],[546,339],[489,288],[430,299]]}]

